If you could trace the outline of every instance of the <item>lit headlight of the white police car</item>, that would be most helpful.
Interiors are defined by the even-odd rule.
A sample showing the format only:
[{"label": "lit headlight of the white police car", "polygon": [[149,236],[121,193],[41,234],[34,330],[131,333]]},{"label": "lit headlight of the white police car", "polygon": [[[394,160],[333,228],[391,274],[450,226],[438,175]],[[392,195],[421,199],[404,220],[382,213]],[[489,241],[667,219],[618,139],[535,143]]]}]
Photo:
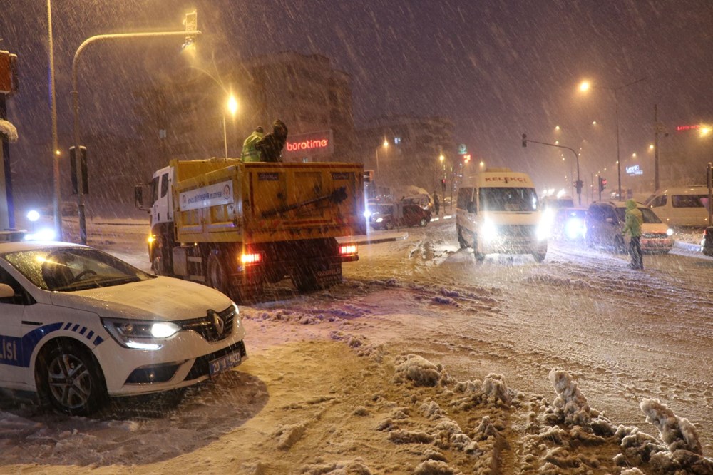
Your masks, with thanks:
[{"label": "lit headlight of the white police car", "polygon": [[103,318],[101,322],[118,344],[133,349],[159,349],[163,347],[161,340],[180,331],[180,326],[173,322],[113,318]]}]

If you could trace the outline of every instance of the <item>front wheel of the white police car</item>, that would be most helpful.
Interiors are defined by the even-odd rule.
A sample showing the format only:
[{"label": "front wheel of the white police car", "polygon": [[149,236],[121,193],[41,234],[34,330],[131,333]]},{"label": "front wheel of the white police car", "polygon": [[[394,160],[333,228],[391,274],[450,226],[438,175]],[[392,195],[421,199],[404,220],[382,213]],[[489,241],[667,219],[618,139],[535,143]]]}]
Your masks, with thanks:
[{"label": "front wheel of the white police car", "polygon": [[93,355],[69,340],[50,345],[36,371],[42,402],[72,416],[87,416],[106,404],[106,383]]}]

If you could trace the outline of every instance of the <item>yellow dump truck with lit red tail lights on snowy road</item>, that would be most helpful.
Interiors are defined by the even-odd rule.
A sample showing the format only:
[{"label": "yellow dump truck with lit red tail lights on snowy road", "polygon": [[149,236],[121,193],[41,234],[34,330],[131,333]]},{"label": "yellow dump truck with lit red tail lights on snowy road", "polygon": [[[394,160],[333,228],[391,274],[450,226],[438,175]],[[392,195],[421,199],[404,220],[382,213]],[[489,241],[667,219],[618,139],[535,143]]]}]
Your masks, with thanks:
[{"label": "yellow dump truck with lit red tail lights on snowy road", "polygon": [[286,277],[301,292],[342,280],[342,262],[359,259],[349,237],[366,229],[363,182],[355,163],[173,160],[153,174],[150,204],[141,185],[135,198],[154,272],[245,301]]}]

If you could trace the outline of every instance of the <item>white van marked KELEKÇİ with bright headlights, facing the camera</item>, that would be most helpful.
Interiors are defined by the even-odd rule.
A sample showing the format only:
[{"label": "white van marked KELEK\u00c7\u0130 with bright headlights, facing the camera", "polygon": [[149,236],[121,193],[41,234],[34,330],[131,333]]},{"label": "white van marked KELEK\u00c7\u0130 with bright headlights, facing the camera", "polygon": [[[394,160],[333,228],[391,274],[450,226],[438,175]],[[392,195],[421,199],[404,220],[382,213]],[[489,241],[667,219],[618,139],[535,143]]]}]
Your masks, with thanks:
[{"label": "white van marked KELEK\u00c7\u0130 with bright headlights, facing the camera", "polygon": [[458,243],[461,248],[473,247],[477,260],[493,253],[531,254],[542,262],[547,230],[540,220],[537,192],[526,173],[488,168],[464,177],[458,188]]}]

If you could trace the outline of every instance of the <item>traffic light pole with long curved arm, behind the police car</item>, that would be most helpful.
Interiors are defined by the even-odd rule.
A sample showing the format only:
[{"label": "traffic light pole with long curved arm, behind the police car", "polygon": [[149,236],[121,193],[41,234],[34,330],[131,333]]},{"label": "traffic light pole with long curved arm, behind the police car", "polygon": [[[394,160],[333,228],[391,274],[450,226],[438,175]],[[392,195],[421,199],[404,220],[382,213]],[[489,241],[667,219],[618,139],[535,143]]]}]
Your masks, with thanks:
[{"label": "traffic light pole with long curved arm, behind the police car", "polygon": [[[187,25],[188,26],[188,25]],[[84,42],[79,45],[76,53],[74,53],[74,59],[72,61],[72,110],[74,115],[74,150],[76,150],[75,156],[77,160],[77,208],[79,215],[79,241],[81,244],[86,245],[87,243],[87,228],[86,228],[86,218],[84,213],[85,203],[84,203],[84,184],[82,179],[82,167],[80,163],[80,141],[79,141],[79,92],[78,92],[78,75],[77,66],[79,64],[79,56],[81,52],[94,41],[99,40],[111,40],[111,39],[138,39],[138,38],[156,38],[156,37],[173,37],[173,36],[183,36],[184,38],[194,39],[198,36],[200,31],[189,30],[189,31],[158,31],[155,33],[120,33],[120,34],[106,34],[106,35],[96,35],[91,36],[84,40]]]}]

